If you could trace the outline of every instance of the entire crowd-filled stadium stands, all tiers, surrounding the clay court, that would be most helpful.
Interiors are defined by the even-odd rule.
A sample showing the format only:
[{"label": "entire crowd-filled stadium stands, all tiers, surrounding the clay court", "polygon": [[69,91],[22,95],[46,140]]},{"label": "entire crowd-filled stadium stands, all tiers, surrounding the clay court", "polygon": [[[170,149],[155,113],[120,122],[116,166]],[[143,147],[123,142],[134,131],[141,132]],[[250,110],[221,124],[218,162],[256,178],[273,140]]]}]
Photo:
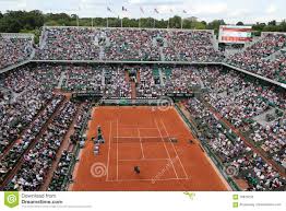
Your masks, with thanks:
[{"label": "entire crowd-filled stadium stands, all tiers, surrounding the clay court", "polygon": [[[237,178],[245,179],[249,190],[281,190],[285,187],[285,177],[265,160],[267,157],[285,172],[285,90],[218,65],[40,62],[221,61],[223,56],[213,47],[212,32],[44,27],[43,37],[36,49],[38,62],[0,75],[2,189],[39,190],[58,153],[61,156],[48,189],[67,189],[72,180],[76,149],[84,144],[84,128],[92,107],[86,102],[73,102],[71,93],[134,99],[134,96],[159,98],[169,93],[198,90],[198,96],[188,99],[184,106],[201,132],[202,142],[225,167],[236,166]],[[32,44],[31,38],[0,35],[0,55],[4,58],[0,68],[27,59],[33,51]],[[267,34],[226,61],[285,83],[285,34]],[[60,151],[74,121],[69,149]],[[266,156],[250,148],[240,132]]]}]

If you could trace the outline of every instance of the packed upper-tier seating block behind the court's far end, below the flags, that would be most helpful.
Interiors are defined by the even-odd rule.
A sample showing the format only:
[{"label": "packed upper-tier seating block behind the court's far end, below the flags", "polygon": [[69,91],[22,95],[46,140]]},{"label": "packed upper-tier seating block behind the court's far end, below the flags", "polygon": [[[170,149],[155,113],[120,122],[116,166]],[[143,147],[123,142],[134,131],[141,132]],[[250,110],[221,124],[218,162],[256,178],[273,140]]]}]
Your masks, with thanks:
[{"label": "packed upper-tier seating block behind the court's far end, below the flags", "polygon": [[[208,31],[166,31],[140,28],[45,27],[40,60],[214,61]],[[160,49],[163,49],[160,51]]]}]

